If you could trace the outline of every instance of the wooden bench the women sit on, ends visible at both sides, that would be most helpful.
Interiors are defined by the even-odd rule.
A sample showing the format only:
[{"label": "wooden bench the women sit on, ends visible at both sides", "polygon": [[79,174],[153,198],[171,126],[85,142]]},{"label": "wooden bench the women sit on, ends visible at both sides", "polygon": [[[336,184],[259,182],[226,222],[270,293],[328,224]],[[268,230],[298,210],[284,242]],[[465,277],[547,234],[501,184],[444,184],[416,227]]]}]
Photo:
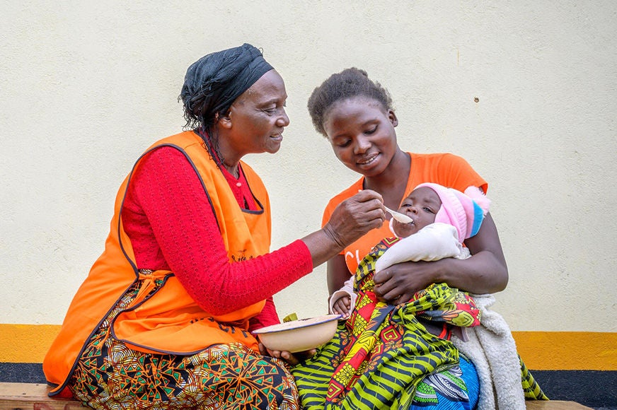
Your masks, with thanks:
[{"label": "wooden bench the women sit on, ends visible at both sides", "polygon": [[[54,399],[47,396],[47,385],[36,383],[0,383],[0,410],[77,410],[88,409],[74,399]],[[575,402],[528,401],[528,410],[591,409]]]}]

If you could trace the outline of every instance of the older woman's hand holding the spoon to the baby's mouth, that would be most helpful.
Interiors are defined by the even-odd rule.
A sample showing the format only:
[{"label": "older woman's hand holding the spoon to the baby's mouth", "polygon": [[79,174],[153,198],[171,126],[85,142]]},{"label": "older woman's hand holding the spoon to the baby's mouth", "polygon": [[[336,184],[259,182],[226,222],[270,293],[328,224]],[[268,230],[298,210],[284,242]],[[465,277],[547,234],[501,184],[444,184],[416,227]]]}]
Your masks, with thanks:
[{"label": "older woman's hand holding the spoon to the baby's mouth", "polygon": [[342,201],[323,229],[341,247],[350,245],[386,220],[384,199],[371,189],[363,189]]}]

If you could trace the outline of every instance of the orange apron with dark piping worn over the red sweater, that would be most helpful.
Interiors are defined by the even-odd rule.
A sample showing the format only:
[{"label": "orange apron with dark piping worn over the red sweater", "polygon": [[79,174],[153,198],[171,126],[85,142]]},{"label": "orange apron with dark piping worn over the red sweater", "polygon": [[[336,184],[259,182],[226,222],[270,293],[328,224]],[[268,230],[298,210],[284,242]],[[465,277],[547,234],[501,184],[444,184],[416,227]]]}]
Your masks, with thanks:
[{"label": "orange apron with dark piping worn over the red sweater", "polygon": [[[260,177],[246,163],[242,169],[255,201],[262,210],[238,206],[229,183],[204,151],[202,139],[192,131],[170,136],[153,144],[135,163],[122,182],[115,200],[115,212],[103,254],[93,264],[86,280],[69,306],[62,328],[43,361],[47,381],[57,385],[50,395],[64,389],[83,348],[118,300],[132,284],[141,280],[137,297],[120,312],[112,324],[116,339],[138,351],[191,355],[213,344],[241,343],[258,351],[248,333],[248,320],[258,315],[265,301],[225,315],[202,310],[171,271],[139,274],[120,212],[127,186],[140,160],[156,148],[172,146],[183,152],[200,177],[217,217],[227,256],[232,260],[257,257],[269,252],[270,200]],[[154,281],[163,285],[151,294]],[[233,323],[233,324],[232,324]]]}]

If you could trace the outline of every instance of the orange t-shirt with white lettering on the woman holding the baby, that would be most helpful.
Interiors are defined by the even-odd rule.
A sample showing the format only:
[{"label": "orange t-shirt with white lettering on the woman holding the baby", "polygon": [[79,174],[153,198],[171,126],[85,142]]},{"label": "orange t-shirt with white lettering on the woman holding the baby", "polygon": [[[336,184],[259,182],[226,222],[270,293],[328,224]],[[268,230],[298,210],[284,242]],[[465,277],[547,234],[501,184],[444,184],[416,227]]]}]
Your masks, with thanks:
[{"label": "orange t-shirt with white lettering on the woman holding the baby", "polygon": [[[403,198],[413,191],[417,185],[424,182],[434,182],[454,189],[459,189],[463,192],[471,185],[480,187],[486,193],[488,183],[475,172],[471,165],[459,156],[451,153],[432,153],[432,154],[417,154],[408,153],[411,157],[410,172],[408,175],[407,186],[405,187],[405,195]],[[345,189],[337,196],[330,199],[328,206],[323,211],[321,225],[325,225],[330,220],[330,216],[336,206],[347,198],[357,194],[359,189],[362,189],[364,177],[360,178],[354,184]],[[400,201],[403,201],[403,198]],[[381,228],[369,231],[362,238],[345,247],[341,254],[345,254],[345,263],[350,274],[353,274],[362,258],[364,258],[377,242],[384,238],[392,237],[393,233],[390,230],[388,221],[385,221]]]}]

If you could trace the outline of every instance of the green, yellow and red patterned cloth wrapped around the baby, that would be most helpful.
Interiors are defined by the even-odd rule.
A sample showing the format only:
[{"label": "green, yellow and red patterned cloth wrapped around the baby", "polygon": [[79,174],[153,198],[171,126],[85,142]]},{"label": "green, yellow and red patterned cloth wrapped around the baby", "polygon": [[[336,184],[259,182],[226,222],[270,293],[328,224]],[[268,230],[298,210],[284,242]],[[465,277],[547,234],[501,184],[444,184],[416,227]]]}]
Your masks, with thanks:
[{"label": "green, yellow and red patterned cloth wrapped around the baby", "polygon": [[292,368],[303,409],[398,409],[425,375],[459,363],[454,345],[427,332],[419,318],[470,327],[480,324],[480,311],[471,297],[445,283],[408,303],[379,302],[374,262],[392,244],[380,242],[359,264],[350,319],[340,322],[316,356]]}]

